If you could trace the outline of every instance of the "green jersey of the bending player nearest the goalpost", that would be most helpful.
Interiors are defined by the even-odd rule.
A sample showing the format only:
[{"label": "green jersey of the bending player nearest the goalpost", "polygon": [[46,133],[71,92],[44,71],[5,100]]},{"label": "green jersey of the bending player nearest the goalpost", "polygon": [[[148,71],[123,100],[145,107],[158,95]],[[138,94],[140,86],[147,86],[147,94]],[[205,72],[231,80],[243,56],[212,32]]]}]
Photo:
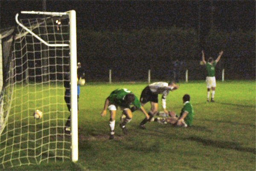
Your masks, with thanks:
[{"label": "green jersey of the bending player nearest the goalpost", "polygon": [[[125,96],[127,94],[132,93],[130,90],[126,89],[126,88],[122,88],[122,89],[116,89],[114,90],[109,96],[108,99],[111,103],[120,106],[120,107],[129,107],[131,104],[133,104],[135,107],[140,108],[141,104],[139,99],[135,96],[135,100],[134,102],[132,102],[131,104],[127,104],[125,102]],[[133,93],[132,93],[133,94]]]}]

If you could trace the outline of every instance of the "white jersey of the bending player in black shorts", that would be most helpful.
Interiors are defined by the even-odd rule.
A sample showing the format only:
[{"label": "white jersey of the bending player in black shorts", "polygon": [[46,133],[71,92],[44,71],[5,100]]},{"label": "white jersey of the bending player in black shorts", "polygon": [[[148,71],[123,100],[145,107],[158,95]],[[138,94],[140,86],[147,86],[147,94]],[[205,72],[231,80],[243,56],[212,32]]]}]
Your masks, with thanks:
[{"label": "white jersey of the bending player in black shorts", "polygon": [[171,87],[168,87],[168,83],[166,82],[155,82],[152,84],[149,84],[149,89],[154,94],[163,94],[162,96],[162,106],[164,109],[166,109],[166,97],[168,96],[170,90],[172,90]]}]

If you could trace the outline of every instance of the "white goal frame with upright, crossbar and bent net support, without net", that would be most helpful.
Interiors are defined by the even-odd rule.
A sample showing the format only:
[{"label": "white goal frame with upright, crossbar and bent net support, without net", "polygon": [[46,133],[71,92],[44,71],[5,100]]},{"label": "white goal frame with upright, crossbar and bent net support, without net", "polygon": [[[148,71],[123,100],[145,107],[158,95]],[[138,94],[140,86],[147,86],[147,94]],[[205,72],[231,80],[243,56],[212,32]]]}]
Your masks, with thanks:
[{"label": "white goal frame with upright, crossbar and bent net support, without net", "polygon": [[78,161],[78,111],[77,111],[77,52],[76,52],[76,11],[71,10],[68,12],[35,12],[35,11],[22,11],[21,14],[42,14],[52,16],[69,15],[70,18],[70,44],[49,44],[29,30],[26,26],[21,24],[18,20],[19,14],[16,14],[15,20],[19,26],[32,34],[39,41],[46,46],[70,46],[70,82],[71,82],[71,153],[72,161]]}]

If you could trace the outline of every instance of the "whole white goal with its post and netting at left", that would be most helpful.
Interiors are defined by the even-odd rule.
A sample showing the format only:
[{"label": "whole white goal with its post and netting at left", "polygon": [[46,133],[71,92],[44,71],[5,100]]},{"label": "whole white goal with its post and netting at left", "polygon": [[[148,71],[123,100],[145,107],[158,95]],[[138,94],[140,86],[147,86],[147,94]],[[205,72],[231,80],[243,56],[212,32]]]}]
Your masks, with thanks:
[{"label": "whole white goal with its post and netting at left", "polygon": [[[76,12],[20,14],[17,27],[0,35],[0,169],[51,159],[76,162]],[[34,118],[35,110],[42,111],[41,119]],[[64,132],[70,115],[71,135]]]}]

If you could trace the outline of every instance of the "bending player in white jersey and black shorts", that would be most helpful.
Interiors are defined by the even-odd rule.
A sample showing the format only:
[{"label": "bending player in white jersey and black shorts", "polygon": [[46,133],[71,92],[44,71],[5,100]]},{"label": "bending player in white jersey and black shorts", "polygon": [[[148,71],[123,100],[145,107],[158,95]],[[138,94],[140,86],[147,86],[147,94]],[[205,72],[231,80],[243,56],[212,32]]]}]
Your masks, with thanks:
[{"label": "bending player in white jersey and black shorts", "polygon": [[169,94],[169,91],[177,90],[179,87],[175,84],[174,81],[171,81],[169,83],[166,82],[155,82],[152,84],[149,84],[147,87],[144,88],[144,90],[141,93],[140,96],[140,102],[141,105],[144,106],[148,101],[151,103],[151,109],[148,113],[150,116],[150,119],[145,118],[140,123],[140,128],[145,129],[145,124],[148,121],[151,121],[151,119],[158,113],[158,94],[163,94],[162,96],[162,106],[163,111],[168,115],[168,111],[166,110],[166,97]]}]

